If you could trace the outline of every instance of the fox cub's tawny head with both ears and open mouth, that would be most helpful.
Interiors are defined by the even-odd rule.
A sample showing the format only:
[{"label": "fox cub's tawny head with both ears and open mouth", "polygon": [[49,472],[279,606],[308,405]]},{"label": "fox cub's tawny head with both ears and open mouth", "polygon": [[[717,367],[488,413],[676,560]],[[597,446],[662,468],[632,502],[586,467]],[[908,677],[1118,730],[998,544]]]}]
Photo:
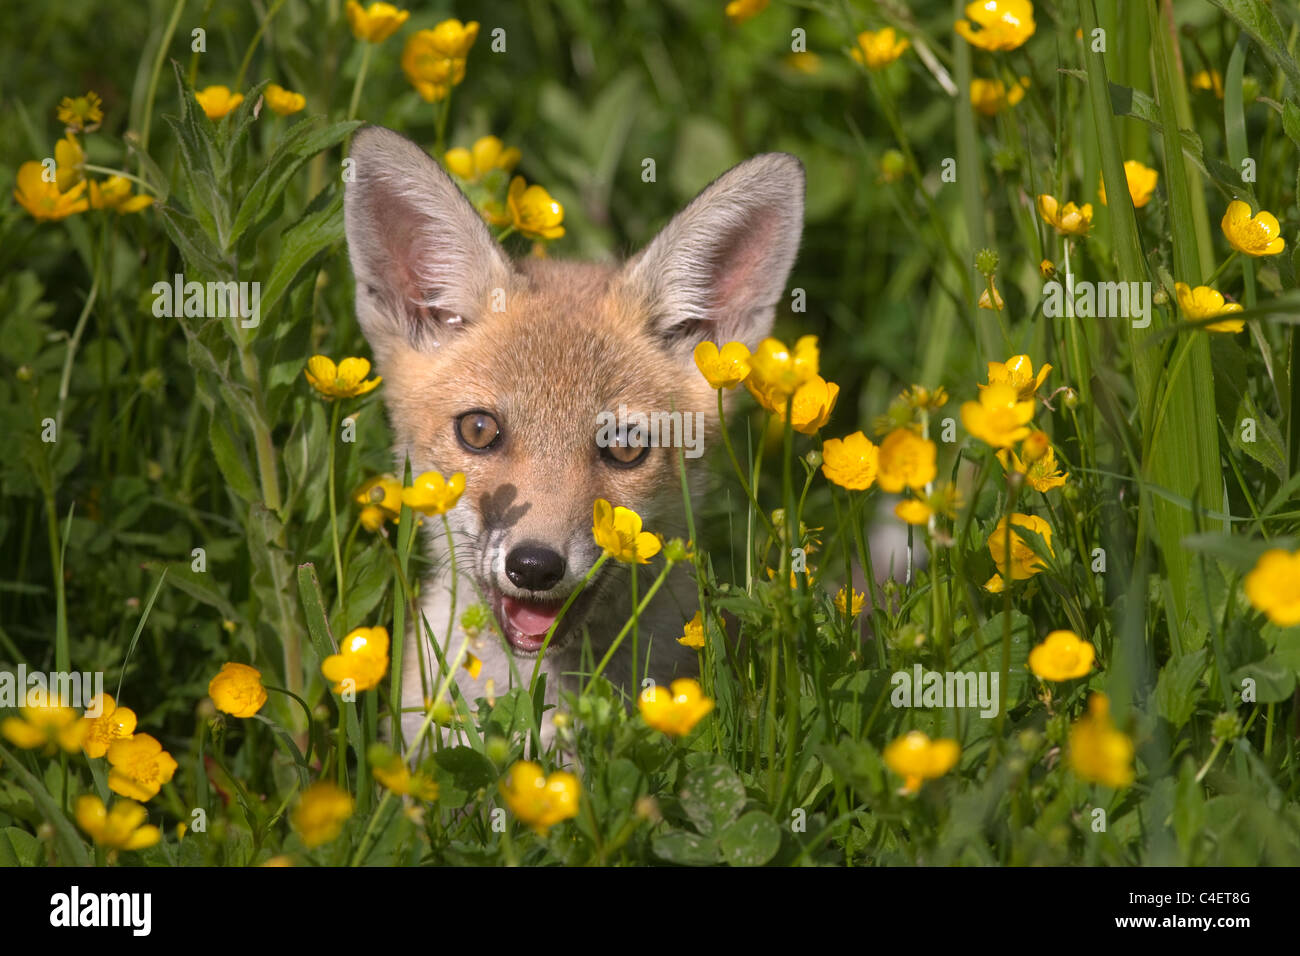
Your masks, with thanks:
[{"label": "fox cub's tawny head with both ears and open mouth", "polygon": [[[352,157],[356,315],[398,467],[410,455],[413,473],[465,473],[458,567],[529,654],[599,557],[597,498],[647,529],[680,527],[679,447],[698,454],[718,424],[692,352],[705,339],[753,349],[770,332],[798,250],[803,169],[785,153],[742,163],[616,267],[511,261],[438,164],[390,130],[358,133]],[[658,428],[638,428],[637,412]]]}]

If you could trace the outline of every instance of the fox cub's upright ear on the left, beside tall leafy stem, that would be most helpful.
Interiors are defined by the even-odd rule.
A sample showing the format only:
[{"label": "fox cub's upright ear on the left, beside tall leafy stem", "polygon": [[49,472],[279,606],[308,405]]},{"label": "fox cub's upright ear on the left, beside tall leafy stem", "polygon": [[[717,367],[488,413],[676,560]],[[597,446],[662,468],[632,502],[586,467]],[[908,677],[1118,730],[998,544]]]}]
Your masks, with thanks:
[{"label": "fox cub's upright ear on the left, beside tall leafy stem", "polygon": [[358,321],[377,358],[402,345],[432,349],[506,285],[510,260],[451,178],[410,139],[368,126],[351,157],[343,221]]}]

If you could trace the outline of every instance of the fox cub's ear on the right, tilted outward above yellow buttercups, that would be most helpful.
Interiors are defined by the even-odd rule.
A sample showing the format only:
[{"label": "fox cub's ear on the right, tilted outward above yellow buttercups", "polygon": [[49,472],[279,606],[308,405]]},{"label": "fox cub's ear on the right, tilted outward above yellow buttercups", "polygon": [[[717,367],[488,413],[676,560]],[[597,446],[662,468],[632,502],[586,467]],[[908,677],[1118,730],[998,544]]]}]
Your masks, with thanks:
[{"label": "fox cub's ear on the right, tilted outward above yellow buttercups", "polygon": [[772,329],[803,230],[803,165],[754,156],[715,179],[624,268],[659,336],[694,345]]}]

